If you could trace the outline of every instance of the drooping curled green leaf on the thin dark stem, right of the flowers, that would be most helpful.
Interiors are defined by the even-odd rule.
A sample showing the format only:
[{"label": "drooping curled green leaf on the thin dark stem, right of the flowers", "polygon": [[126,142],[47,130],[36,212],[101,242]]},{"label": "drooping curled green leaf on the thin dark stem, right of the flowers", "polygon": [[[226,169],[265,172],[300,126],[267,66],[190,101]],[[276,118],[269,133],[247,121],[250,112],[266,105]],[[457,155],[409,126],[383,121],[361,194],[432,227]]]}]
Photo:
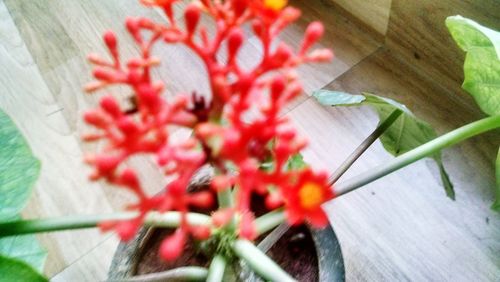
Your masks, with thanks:
[{"label": "drooping curled green leaf on the thin dark stem, right of the flowers", "polygon": [[[327,106],[372,106],[377,111],[380,122],[387,119],[395,110],[401,110],[402,115],[380,136],[384,148],[394,156],[404,154],[437,137],[428,123],[418,119],[405,105],[388,98],[368,93],[351,95],[328,90],[316,91],[313,96]],[[439,167],[446,195],[454,199],[453,184],[444,169],[441,155],[436,154],[432,158]]]}]

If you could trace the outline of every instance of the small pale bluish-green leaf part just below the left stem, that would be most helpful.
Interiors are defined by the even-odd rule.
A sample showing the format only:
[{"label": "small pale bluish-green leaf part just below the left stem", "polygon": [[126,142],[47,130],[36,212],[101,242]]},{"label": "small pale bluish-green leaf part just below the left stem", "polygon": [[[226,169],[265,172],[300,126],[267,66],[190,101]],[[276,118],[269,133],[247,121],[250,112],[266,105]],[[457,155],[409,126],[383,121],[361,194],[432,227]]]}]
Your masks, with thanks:
[{"label": "small pale bluish-green leaf part just below the left stem", "polygon": [[35,235],[23,235],[0,238],[0,255],[23,261],[41,272],[47,252]]}]

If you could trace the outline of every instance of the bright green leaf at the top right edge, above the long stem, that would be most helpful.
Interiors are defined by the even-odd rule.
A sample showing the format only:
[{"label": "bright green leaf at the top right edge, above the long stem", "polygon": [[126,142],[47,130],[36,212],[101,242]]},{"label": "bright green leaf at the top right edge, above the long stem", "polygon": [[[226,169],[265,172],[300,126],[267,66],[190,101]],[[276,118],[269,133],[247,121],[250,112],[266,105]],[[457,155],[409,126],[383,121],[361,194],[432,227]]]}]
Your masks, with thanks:
[{"label": "bright green leaf at the top right edge, above the long stem", "polygon": [[500,32],[461,16],[448,17],[453,39],[467,52],[462,87],[488,115],[500,114]]}]

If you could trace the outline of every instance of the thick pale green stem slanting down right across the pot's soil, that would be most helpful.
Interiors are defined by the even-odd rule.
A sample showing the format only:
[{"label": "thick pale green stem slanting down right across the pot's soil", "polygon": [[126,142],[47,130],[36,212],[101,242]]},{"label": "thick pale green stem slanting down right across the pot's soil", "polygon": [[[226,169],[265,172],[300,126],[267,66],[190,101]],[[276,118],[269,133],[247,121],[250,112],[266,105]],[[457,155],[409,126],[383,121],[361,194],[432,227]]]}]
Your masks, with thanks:
[{"label": "thick pale green stem slanting down right across the pot's soil", "polygon": [[262,278],[269,281],[280,282],[296,281],[251,242],[238,239],[234,242],[232,247],[235,254],[246,261]]}]

